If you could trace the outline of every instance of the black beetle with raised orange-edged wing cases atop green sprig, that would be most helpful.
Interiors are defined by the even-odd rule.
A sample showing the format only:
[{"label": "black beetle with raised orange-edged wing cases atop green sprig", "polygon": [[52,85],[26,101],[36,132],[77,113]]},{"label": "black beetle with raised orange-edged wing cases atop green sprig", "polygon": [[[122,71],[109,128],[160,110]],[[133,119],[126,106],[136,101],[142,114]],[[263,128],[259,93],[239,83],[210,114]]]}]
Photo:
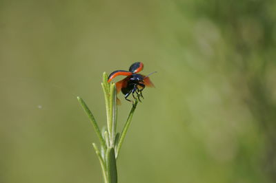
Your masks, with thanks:
[{"label": "black beetle with raised orange-edged wing cases atop green sprig", "polygon": [[136,62],[130,65],[130,68],[128,71],[125,70],[115,70],[108,76],[108,83],[111,82],[112,79],[114,79],[117,76],[127,76],[126,78],[119,80],[115,85],[117,88],[117,93],[120,91],[124,94],[125,99],[129,102],[134,103],[132,100],[128,99],[128,96],[132,94],[133,98],[135,98],[135,94],[137,94],[138,100],[141,102],[141,98],[144,98],[142,91],[145,87],[154,87],[153,83],[150,81],[151,74],[154,74],[155,72],[152,72],[148,74],[148,76],[144,76],[142,74],[137,74],[138,72],[141,72],[141,70],[144,69],[144,64],[141,62]]}]

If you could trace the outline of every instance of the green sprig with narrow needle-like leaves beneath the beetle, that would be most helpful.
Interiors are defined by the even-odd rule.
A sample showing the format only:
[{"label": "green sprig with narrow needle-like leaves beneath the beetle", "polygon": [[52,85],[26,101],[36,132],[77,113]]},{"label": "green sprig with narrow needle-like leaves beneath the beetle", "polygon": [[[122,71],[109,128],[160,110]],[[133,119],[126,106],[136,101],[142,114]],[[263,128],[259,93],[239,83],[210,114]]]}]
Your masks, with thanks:
[{"label": "green sprig with narrow needle-like leaves beneath the beetle", "polygon": [[116,94],[116,85],[114,83],[108,83],[108,76],[106,72],[103,73],[103,83],[101,83],[103,88],[103,94],[106,101],[106,117],[107,117],[107,130],[105,127],[102,129],[102,133],[97,125],[92,112],[86,105],[86,103],[78,96],[77,99],[83,107],[84,111],[88,115],[92,126],[94,127],[96,134],[101,142],[101,151],[99,151],[97,145],[92,143],[95,152],[99,158],[101,164],[101,171],[103,173],[103,180],[105,183],[117,183],[117,157],[121,149],[121,144],[126,137],[126,132],[130,126],[130,121],[136,109],[138,100],[135,100],[135,103],[132,105],[130,114],[128,115],[128,120],[124,125],[124,129],[121,132],[121,137],[117,130],[117,94]]}]

